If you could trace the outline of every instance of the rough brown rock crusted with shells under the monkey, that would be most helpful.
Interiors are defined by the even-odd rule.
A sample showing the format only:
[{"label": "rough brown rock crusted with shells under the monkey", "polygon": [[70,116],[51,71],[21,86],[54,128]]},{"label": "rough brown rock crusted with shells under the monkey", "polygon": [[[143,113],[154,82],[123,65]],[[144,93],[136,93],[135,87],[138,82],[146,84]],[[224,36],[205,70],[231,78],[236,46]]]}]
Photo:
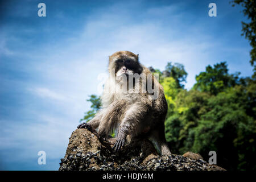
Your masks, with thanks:
[{"label": "rough brown rock crusted with shells under the monkey", "polygon": [[61,171],[71,170],[225,170],[210,165],[202,159],[195,160],[180,155],[159,156],[147,139],[131,141],[115,154],[108,143],[101,143],[96,135],[86,129],[73,131]]}]

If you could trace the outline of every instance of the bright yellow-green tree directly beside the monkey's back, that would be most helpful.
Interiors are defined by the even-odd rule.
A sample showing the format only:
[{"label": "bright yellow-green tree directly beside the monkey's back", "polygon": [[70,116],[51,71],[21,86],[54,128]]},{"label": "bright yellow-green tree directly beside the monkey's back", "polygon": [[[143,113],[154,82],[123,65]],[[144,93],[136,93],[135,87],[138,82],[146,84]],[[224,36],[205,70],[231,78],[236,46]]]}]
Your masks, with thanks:
[{"label": "bright yellow-green tree directly beside the monkey's back", "polygon": [[192,151],[193,128],[199,125],[202,114],[207,112],[210,95],[198,90],[180,90],[175,99],[173,114],[166,120],[166,139],[176,154]]}]

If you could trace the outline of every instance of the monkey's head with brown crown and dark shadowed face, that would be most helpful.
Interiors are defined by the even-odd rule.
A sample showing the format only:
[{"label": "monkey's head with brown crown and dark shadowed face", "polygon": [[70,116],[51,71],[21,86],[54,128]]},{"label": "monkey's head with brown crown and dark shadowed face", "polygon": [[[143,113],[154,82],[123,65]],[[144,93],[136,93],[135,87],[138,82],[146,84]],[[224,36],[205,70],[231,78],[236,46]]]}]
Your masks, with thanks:
[{"label": "monkey's head with brown crown and dark shadowed face", "polygon": [[129,51],[115,52],[109,57],[109,68],[115,70],[115,76],[141,74],[142,67],[138,61],[138,55]]}]

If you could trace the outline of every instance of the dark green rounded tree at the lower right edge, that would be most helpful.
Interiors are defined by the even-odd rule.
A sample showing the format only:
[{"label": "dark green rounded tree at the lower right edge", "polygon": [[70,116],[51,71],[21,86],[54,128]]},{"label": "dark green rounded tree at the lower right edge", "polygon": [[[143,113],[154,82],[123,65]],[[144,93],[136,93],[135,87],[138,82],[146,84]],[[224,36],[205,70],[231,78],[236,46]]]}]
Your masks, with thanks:
[{"label": "dark green rounded tree at the lower right edge", "polygon": [[218,164],[224,168],[255,170],[255,159],[251,158],[256,146],[255,114],[251,112],[255,110],[251,105],[251,100],[255,104],[255,96],[247,87],[237,85],[210,97],[208,111],[192,129],[195,135],[192,151],[207,156],[214,150]]}]

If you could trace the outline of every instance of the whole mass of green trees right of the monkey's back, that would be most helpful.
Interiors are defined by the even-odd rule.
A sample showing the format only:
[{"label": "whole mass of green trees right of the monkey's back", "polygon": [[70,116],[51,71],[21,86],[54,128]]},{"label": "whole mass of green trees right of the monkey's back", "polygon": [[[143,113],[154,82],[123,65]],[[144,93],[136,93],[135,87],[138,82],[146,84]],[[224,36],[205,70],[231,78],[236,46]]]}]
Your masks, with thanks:
[{"label": "whole mass of green trees right of the monkey's back", "polygon": [[226,63],[209,65],[196,80],[189,91],[165,91],[167,97],[172,95],[166,119],[172,152],[199,152],[208,159],[208,152],[214,150],[219,166],[256,169],[251,161],[256,144],[256,81],[229,74]]}]

